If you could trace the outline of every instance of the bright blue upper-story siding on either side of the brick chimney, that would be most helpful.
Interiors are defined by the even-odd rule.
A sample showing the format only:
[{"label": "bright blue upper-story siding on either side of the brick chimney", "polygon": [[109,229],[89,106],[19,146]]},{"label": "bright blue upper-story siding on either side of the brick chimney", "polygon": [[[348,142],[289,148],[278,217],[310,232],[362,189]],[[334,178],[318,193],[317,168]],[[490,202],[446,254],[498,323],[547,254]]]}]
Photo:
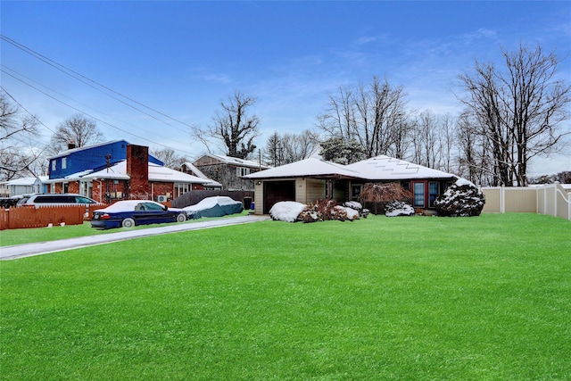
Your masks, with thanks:
[{"label": "bright blue upper-story siding on either side of the brick chimney", "polygon": [[[71,148],[49,160],[49,178],[66,178],[84,170],[103,170],[127,159],[126,140],[114,140],[99,145]],[[159,159],[149,155],[149,162],[164,165]]]}]

